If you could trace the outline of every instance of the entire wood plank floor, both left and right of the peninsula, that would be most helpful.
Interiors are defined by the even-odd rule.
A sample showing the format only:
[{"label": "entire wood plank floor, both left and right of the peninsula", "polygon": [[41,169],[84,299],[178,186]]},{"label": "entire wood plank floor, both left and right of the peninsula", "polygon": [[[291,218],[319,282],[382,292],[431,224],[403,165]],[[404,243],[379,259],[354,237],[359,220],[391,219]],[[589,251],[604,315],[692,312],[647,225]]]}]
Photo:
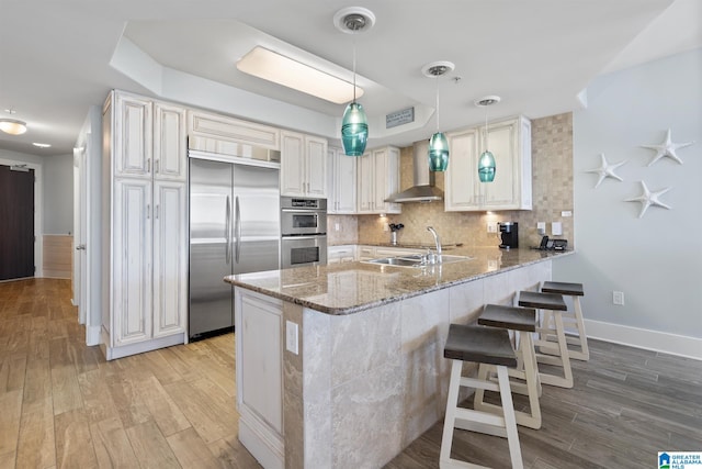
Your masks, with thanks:
[{"label": "entire wood plank floor, both left and right of the peninsula", "polygon": [[[260,468],[237,439],[231,334],[106,362],[76,317],[69,280],[0,283],[0,469]],[[702,450],[701,361],[590,351],[574,389],[544,387],[542,428],[519,427],[526,468],[650,468],[658,450]],[[438,468],[441,431],[386,468]],[[509,467],[500,438],[456,432],[454,456]]]}]

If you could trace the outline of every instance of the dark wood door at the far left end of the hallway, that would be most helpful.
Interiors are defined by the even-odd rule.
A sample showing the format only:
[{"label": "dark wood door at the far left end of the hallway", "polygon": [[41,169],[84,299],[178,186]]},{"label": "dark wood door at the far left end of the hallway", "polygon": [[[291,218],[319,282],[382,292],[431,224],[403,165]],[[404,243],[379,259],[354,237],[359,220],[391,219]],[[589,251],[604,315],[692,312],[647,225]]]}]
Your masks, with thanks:
[{"label": "dark wood door at the far left end of the hallway", "polygon": [[0,165],[0,280],[34,277],[34,169]]}]

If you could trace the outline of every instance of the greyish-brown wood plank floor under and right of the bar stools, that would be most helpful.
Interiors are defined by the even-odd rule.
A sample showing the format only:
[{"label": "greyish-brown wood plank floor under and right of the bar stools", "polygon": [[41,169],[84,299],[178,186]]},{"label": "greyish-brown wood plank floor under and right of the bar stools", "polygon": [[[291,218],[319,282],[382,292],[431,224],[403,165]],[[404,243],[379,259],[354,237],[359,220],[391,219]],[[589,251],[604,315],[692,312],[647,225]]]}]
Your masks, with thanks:
[{"label": "greyish-brown wood plank floor under and right of the bar stools", "polygon": [[[575,386],[543,387],[542,427],[518,427],[525,468],[654,468],[658,451],[702,451],[702,361],[590,340]],[[514,406],[529,409],[523,395]],[[472,403],[464,403],[471,407]],[[491,402],[499,403],[496,395]],[[438,468],[443,422],[386,469]],[[452,457],[509,468],[507,440],[455,431]]]}]

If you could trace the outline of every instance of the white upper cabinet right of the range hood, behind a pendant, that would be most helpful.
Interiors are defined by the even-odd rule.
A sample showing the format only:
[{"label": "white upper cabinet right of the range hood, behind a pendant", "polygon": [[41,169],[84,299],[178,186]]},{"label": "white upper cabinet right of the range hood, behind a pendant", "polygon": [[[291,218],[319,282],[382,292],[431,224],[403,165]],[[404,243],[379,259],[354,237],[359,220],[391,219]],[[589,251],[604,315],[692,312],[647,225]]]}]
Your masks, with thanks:
[{"label": "white upper cabinet right of the range hood, behind a pendant", "polygon": [[449,134],[446,211],[531,210],[531,122],[523,116],[491,123],[487,149],[495,156],[495,181],[480,182],[477,167],[486,149],[485,127]]}]

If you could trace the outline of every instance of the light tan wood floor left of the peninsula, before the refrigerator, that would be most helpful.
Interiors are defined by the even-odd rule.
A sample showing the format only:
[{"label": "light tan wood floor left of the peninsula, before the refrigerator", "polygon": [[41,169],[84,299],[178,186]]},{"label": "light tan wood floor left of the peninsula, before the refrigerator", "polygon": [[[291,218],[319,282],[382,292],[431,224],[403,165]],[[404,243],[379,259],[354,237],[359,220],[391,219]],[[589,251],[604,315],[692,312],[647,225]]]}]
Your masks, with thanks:
[{"label": "light tan wood floor left of the peninsula, before the refrigerator", "polygon": [[70,280],[0,283],[0,468],[259,468],[237,439],[234,335],[106,362]]}]

